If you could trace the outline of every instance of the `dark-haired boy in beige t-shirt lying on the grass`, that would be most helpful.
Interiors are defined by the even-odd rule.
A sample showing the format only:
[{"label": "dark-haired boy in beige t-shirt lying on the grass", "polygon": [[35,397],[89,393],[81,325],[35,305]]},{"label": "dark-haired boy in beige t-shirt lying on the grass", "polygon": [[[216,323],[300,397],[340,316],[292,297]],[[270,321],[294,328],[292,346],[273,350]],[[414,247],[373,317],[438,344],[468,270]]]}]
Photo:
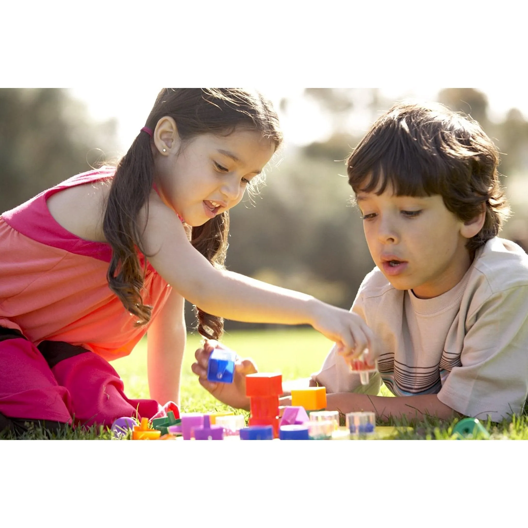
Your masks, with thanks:
[{"label": "dark-haired boy in beige t-shirt lying on the grass", "polygon": [[[379,374],[359,393],[359,375],[332,349],[310,380],[326,387],[328,409],[493,421],[523,410],[528,256],[497,238],[509,214],[497,165],[482,128],[437,103],[398,103],[354,149],[348,182],[376,267],[351,310],[378,340]],[[237,383],[219,387],[204,380],[210,351],[196,351],[193,372],[247,407],[243,376],[254,365],[242,361]],[[381,381],[394,398],[370,395]]]}]

